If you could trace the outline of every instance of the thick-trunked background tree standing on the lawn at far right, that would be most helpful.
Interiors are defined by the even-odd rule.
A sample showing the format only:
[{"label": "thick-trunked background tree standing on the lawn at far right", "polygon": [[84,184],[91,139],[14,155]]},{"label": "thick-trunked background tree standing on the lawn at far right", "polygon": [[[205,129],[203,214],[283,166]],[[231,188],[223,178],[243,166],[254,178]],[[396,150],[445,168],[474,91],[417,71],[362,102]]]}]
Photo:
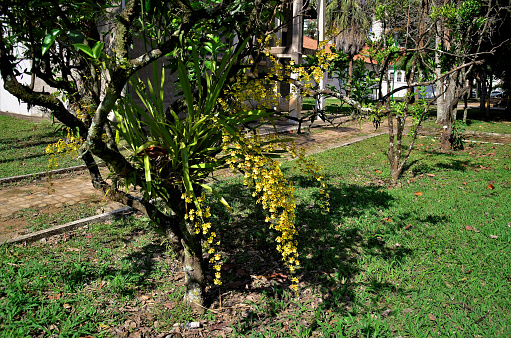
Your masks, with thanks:
[{"label": "thick-trunked background tree standing on the lawn at far right", "polygon": [[[478,68],[484,79],[483,83],[486,84],[486,75],[491,65],[485,61],[488,61],[488,56],[494,54],[499,47],[492,41],[492,35],[502,20],[498,15],[501,9],[492,1],[476,0],[444,2],[433,7],[437,73],[451,71],[462,64],[468,65],[438,82],[438,91],[442,93],[443,100],[437,105],[437,123],[443,126],[440,141],[444,150],[453,148],[453,124],[456,121],[457,105],[463,96],[468,95],[470,84],[467,84],[467,78],[478,64],[484,64]],[[483,101],[486,96],[484,89],[483,85]]]}]

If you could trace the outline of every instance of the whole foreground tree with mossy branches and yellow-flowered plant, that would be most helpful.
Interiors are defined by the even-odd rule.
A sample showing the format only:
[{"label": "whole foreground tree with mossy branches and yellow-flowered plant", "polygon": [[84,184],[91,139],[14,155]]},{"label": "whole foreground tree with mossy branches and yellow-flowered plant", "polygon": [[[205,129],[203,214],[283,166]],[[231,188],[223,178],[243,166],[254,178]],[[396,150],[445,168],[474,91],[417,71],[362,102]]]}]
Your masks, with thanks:
[{"label": "whole foreground tree with mossy branches and yellow-flowered plant", "polygon": [[[269,115],[243,104],[253,94],[244,90],[264,87],[264,79],[245,80],[257,73],[275,16],[288,2],[128,0],[121,7],[94,0],[7,0],[0,5],[5,89],[47,108],[69,128],[74,142],[62,146],[79,150],[94,187],[144,210],[158,224],[182,253],[185,299],[199,306],[207,265],[204,247],[212,254],[219,283],[216,234],[201,197],[209,190],[227,205],[205,182],[219,168],[245,174],[246,185],[269,212],[270,227],[281,234],[277,249],[284,262],[291,272],[298,265],[292,188],[271,158],[287,148],[257,135],[246,137],[240,129]],[[143,48],[131,49],[132,44]],[[25,60],[30,61],[27,69]],[[174,87],[180,98],[169,107],[164,105],[167,75],[157,61],[179,77]],[[136,76],[150,65],[152,81]],[[57,91],[20,83],[20,74],[33,75]],[[141,104],[123,94],[128,83]],[[117,124],[108,118],[112,112]],[[118,148],[121,136],[128,156]],[[112,184],[103,179],[92,155],[107,164]],[[143,197],[125,193],[123,185],[141,187]]]}]

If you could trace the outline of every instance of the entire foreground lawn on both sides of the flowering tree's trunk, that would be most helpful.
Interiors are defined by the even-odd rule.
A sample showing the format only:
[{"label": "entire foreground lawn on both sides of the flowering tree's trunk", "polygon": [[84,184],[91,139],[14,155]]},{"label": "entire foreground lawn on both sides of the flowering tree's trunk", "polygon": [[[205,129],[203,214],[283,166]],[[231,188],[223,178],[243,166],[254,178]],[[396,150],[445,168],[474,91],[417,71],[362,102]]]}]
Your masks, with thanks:
[{"label": "entire foreground lawn on both sides of the flowering tree's trunk", "polygon": [[188,321],[202,328],[184,336],[511,336],[511,147],[443,153],[421,138],[396,186],[383,149],[377,137],[314,156],[328,215],[314,207],[317,189],[284,164],[298,198],[299,296],[265,215],[235,178],[217,184],[234,211],[211,205],[226,261],[205,314],[180,303],[175,256],[132,217],[0,247],[0,337],[159,334]]}]

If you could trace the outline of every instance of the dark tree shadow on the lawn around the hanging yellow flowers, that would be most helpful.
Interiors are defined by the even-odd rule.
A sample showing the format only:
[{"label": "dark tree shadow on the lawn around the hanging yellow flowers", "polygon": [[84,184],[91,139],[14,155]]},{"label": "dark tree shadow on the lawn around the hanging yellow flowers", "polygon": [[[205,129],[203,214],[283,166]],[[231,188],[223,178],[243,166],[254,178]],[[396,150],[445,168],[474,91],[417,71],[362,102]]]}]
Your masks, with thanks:
[{"label": "dark tree shadow on the lawn around the hanging yellow flowers", "polygon": [[[387,234],[395,233],[399,223],[386,225],[384,233],[376,230],[363,229],[362,224],[344,223],[362,219],[365,215],[380,217],[381,212],[388,209],[394,199],[379,186],[363,186],[338,184],[329,187],[330,212],[321,214],[319,207],[314,206],[319,200],[317,192],[309,188],[310,181],[295,177],[295,187],[300,187],[302,196],[297,205],[296,221],[297,242],[300,254],[300,282],[312,286],[323,298],[321,311],[346,313],[346,309],[357,300],[354,289],[360,286],[370,290],[374,301],[382,292],[402,292],[392,283],[381,282],[375,278],[358,280],[366,267],[361,263],[362,255],[379,257],[391,265],[400,262],[412,254],[412,249],[405,247],[390,247],[384,238]],[[231,252],[229,264],[233,266],[231,273],[225,275],[225,280],[232,279],[222,287],[223,291],[238,289],[240,292],[264,292],[273,297],[280,297],[278,290],[286,290],[288,281],[273,283],[272,287],[254,289],[251,276],[281,273],[287,275],[286,268],[281,262],[280,254],[275,250],[275,234],[268,230],[264,223],[264,214],[255,205],[250,193],[241,183],[231,183],[219,188],[227,200],[236,201],[238,210],[234,216],[220,216],[218,221],[224,224],[222,233],[222,250]],[[215,210],[214,214],[221,214]],[[229,228],[227,228],[227,226]],[[246,271],[241,277],[235,271]],[[236,281],[239,283],[236,284]],[[269,315],[267,313],[267,315]],[[270,315],[271,316],[271,315]],[[276,316],[276,315],[275,315]],[[250,326],[250,325],[249,325]],[[249,330],[250,327],[245,328]]]}]

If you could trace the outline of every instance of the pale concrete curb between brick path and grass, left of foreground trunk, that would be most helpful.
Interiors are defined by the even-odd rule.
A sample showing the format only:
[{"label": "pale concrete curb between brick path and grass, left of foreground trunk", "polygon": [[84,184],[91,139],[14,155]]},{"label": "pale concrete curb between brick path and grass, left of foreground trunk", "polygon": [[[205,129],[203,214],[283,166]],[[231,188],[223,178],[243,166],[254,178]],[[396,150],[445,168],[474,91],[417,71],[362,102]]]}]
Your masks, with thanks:
[{"label": "pale concrete curb between brick path and grass, left of foreground trunk", "polygon": [[62,234],[64,232],[76,230],[76,229],[81,228],[88,224],[94,224],[94,223],[108,221],[111,219],[121,218],[123,216],[130,214],[132,211],[133,211],[132,207],[125,207],[125,208],[117,209],[114,211],[106,212],[101,215],[82,218],[77,221],[73,221],[70,223],[62,224],[62,225],[57,225],[57,226],[54,226],[49,229],[36,231],[36,232],[30,233],[27,235],[23,235],[23,236],[19,236],[16,238],[11,238],[11,239],[6,240],[3,243],[0,243],[0,245],[6,244],[6,243],[23,243],[23,242],[33,243],[33,242],[41,240],[43,238],[48,238],[48,237],[51,237],[54,235]]}]

